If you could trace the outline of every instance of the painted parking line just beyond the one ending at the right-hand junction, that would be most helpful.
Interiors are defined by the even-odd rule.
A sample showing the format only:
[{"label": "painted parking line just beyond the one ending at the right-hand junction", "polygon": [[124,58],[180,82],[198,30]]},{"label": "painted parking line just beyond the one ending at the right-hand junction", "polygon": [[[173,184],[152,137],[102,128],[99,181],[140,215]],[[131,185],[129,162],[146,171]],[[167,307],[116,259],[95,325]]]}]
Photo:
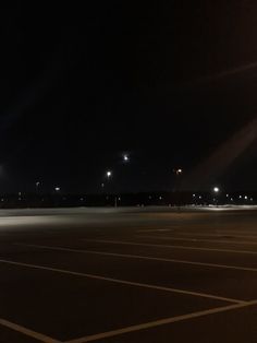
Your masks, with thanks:
[{"label": "painted parking line just beyond the one ending at the right-hand junction", "polygon": [[26,245],[26,244],[19,244],[19,246],[25,246],[25,247],[38,248],[38,249],[76,252],[76,253],[91,253],[91,255],[126,258],[126,259],[140,259],[140,260],[148,260],[148,261],[171,262],[171,263],[182,263],[182,264],[200,265],[200,267],[208,267],[208,268],[232,269],[232,270],[240,270],[240,271],[246,271],[246,272],[257,272],[257,268],[227,265],[227,264],[217,264],[217,263],[207,263],[207,262],[197,262],[197,261],[188,261],[188,260],[178,260],[178,259],[156,258],[156,257],[142,256],[142,255],[115,253],[115,252],[106,252],[106,251],[96,251],[96,250],[82,250],[82,249],[40,246],[40,245]]}]

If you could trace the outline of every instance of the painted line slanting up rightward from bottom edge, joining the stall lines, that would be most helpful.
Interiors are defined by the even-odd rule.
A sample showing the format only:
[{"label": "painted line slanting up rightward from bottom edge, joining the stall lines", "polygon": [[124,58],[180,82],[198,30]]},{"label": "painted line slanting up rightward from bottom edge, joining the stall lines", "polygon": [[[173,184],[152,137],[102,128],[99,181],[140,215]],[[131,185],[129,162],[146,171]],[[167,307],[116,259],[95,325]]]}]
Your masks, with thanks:
[{"label": "painted line slanting up rightward from bottom edge, joining the stall lines", "polygon": [[112,331],[108,331],[108,332],[93,334],[93,335],[88,335],[85,338],[75,339],[75,340],[69,341],[66,343],[86,343],[86,342],[102,340],[102,339],[107,339],[107,338],[111,338],[111,336],[115,336],[115,335],[121,335],[121,334],[128,333],[128,332],[136,332],[136,331],[146,330],[146,329],[150,329],[150,328],[155,328],[155,327],[166,326],[166,324],[170,324],[170,323],[178,322],[178,321],[184,321],[184,320],[189,320],[193,318],[225,312],[225,311],[230,311],[230,310],[237,309],[237,308],[244,308],[244,307],[253,306],[256,304],[257,304],[257,300],[253,300],[253,301],[248,301],[246,304],[236,304],[236,305],[229,305],[229,306],[224,306],[224,307],[217,307],[217,308],[197,311],[197,312],[193,312],[193,314],[188,314],[188,315],[182,315],[182,316],[176,316],[176,317],[171,317],[171,318],[159,319],[156,321],[149,321],[149,322],[145,322],[145,323],[137,324],[137,326],[131,326],[127,328],[121,328],[118,330],[112,330]]}]

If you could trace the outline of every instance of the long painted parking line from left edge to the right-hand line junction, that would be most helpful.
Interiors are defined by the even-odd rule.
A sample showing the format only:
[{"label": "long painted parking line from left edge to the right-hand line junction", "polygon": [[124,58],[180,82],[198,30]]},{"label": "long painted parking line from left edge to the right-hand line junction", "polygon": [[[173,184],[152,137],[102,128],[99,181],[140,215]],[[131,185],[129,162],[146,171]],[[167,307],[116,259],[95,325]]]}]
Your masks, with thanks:
[{"label": "long painted parking line from left edge to the right-hand line junction", "polygon": [[236,304],[245,304],[246,303],[244,300],[225,298],[225,297],[216,296],[216,295],[211,295],[211,294],[189,292],[189,291],[185,291],[185,289],[178,289],[178,288],[171,288],[171,287],[162,287],[162,286],[150,285],[150,284],[146,284],[146,283],[138,283],[138,282],[125,281],[125,280],[121,280],[121,279],[106,277],[106,276],[100,276],[100,275],[96,275],[96,274],[73,272],[73,271],[69,271],[69,270],[56,269],[56,268],[44,267],[44,265],[38,265],[38,264],[28,264],[28,263],[15,262],[15,261],[10,261],[10,260],[0,260],[0,263],[20,265],[20,267],[25,267],[25,268],[30,268],[30,269],[46,270],[46,271],[50,271],[50,272],[82,276],[82,277],[100,280],[100,281],[108,281],[108,282],[112,282],[112,283],[136,286],[136,287],[142,287],[142,288],[149,288],[149,289],[157,289],[157,291],[162,291],[162,292],[171,292],[171,293],[179,293],[179,294],[185,294],[185,295],[193,295],[193,296],[210,298],[210,299],[228,301],[228,303],[236,303]]}]

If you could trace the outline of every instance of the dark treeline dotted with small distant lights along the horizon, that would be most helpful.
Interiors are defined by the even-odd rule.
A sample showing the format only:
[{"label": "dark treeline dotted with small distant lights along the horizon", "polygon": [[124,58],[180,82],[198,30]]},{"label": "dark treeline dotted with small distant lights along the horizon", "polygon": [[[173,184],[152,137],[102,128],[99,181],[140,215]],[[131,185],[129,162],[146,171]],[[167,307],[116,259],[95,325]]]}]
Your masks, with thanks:
[{"label": "dark treeline dotted with small distant lights along the horizon", "polygon": [[12,193],[0,196],[0,208],[70,208],[70,206],[135,206],[135,205],[218,205],[256,204],[256,192],[140,192],[140,193]]}]

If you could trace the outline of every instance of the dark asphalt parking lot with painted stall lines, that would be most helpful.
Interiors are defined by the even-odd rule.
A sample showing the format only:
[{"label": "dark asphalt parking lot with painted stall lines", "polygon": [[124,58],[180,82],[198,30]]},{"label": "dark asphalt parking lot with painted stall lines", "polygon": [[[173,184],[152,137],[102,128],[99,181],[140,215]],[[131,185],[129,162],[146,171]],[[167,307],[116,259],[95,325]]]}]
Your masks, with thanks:
[{"label": "dark asphalt parking lot with painted stall lines", "polygon": [[0,211],[0,342],[256,343],[257,211]]}]

